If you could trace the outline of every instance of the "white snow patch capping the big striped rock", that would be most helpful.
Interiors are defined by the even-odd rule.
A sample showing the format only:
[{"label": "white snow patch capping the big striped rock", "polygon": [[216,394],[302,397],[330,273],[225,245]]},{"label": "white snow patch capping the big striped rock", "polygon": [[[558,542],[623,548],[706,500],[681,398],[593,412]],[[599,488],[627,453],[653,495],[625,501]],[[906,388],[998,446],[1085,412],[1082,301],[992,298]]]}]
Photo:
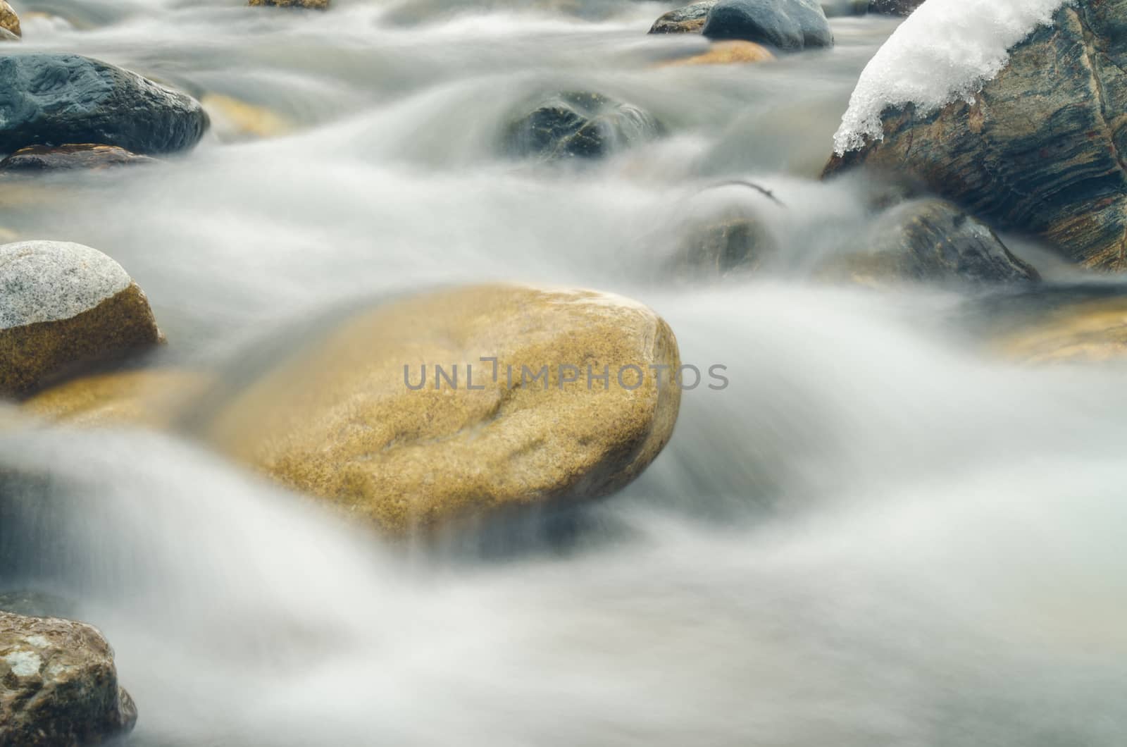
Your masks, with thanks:
[{"label": "white snow patch capping the big striped rock", "polygon": [[1009,50],[1074,0],[928,0],[900,24],[861,72],[834,135],[838,156],[884,137],[880,114],[915,104],[930,114],[973,102]]}]

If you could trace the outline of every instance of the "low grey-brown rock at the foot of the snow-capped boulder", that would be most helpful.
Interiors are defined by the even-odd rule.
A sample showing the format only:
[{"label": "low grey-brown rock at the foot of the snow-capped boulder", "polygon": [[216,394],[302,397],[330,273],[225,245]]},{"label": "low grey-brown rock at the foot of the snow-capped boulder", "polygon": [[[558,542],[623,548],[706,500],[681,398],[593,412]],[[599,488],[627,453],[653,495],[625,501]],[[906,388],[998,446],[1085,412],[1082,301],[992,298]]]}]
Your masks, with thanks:
[{"label": "low grey-brown rock at the foot of the snow-capped boulder", "polygon": [[1040,279],[988,226],[944,200],[914,200],[886,211],[860,244],[860,252],[833,261],[823,274],[866,284]]}]

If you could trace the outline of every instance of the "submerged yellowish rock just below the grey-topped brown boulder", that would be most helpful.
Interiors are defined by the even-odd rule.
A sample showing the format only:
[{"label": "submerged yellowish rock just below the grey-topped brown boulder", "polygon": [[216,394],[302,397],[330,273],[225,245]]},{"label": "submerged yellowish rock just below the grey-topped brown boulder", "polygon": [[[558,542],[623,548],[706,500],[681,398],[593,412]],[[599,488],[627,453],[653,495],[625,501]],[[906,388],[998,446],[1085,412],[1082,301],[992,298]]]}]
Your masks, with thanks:
[{"label": "submerged yellowish rock just below the grey-topped brown boulder", "polygon": [[210,377],[195,371],[114,371],[65,381],[36,394],[20,408],[36,418],[70,425],[167,429],[210,384]]}]

